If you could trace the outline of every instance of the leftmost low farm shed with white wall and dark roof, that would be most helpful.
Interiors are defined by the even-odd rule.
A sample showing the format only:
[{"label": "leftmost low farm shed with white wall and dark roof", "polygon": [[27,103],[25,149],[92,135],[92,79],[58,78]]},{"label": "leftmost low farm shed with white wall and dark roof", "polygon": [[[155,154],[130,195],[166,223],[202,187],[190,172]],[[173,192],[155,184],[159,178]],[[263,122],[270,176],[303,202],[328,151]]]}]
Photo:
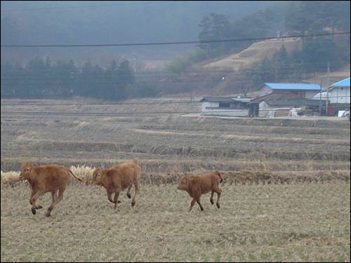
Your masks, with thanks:
[{"label": "leftmost low farm shed with white wall and dark roof", "polygon": [[211,116],[249,116],[251,98],[204,97],[200,100],[201,114]]}]

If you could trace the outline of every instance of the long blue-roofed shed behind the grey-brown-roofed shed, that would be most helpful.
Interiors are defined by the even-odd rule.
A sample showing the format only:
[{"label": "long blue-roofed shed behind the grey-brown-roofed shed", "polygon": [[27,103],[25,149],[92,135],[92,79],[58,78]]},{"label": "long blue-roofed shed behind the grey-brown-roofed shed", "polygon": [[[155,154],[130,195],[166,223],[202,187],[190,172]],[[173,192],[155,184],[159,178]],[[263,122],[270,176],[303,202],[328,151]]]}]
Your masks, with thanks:
[{"label": "long blue-roofed shed behind the grey-brown-roofed shed", "polygon": [[293,93],[298,97],[312,98],[321,86],[307,83],[264,83],[258,90],[258,97],[272,93]]}]

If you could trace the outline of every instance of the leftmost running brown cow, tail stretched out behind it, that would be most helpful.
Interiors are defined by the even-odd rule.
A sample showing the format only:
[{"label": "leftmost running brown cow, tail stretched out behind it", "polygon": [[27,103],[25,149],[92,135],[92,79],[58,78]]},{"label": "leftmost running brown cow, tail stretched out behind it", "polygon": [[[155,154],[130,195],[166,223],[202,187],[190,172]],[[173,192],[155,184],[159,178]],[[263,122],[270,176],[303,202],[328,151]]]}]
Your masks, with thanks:
[{"label": "leftmost running brown cow, tail stretched out behind it", "polygon": [[77,180],[82,181],[64,166],[34,166],[34,163],[24,163],[22,165],[19,179],[28,180],[29,186],[32,189],[29,203],[32,205],[33,215],[37,213],[37,209],[43,208],[41,205],[36,205],[35,201],[50,191],[52,201],[45,215],[46,217],[51,216],[51,211],[55,205],[62,200],[63,192],[67,188],[69,174],[73,175]]}]

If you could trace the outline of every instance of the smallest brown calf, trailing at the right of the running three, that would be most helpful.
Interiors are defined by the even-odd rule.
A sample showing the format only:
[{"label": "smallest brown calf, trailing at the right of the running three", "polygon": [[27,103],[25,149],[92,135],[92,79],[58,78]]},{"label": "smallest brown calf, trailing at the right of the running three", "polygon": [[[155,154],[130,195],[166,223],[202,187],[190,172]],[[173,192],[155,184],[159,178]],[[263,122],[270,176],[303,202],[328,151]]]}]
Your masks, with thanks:
[{"label": "smallest brown calf, trailing at the right of the running three", "polygon": [[216,205],[218,208],[220,208],[219,200],[222,190],[220,190],[218,187],[219,182],[223,182],[223,178],[220,176],[220,173],[218,171],[195,177],[189,177],[188,175],[185,175],[179,182],[178,190],[187,191],[187,193],[192,197],[192,203],[190,204],[189,212],[192,210],[195,202],[200,205],[201,211],[204,210],[200,203],[200,196],[201,194],[206,194],[209,191],[212,191],[210,198],[212,204],[213,193],[217,193]]}]

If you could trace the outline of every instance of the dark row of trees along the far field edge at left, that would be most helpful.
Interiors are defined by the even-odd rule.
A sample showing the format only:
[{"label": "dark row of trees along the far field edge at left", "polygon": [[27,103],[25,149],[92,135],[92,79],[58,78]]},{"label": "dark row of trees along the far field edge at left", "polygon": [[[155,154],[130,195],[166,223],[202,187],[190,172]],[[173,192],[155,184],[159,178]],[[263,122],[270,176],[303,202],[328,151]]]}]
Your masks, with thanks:
[{"label": "dark row of trees along the far field edge at left", "polygon": [[73,60],[52,62],[33,58],[26,65],[1,65],[1,97],[94,97],[124,100],[131,95],[135,74],[128,60],[112,61],[107,68],[86,62],[79,69]]}]

